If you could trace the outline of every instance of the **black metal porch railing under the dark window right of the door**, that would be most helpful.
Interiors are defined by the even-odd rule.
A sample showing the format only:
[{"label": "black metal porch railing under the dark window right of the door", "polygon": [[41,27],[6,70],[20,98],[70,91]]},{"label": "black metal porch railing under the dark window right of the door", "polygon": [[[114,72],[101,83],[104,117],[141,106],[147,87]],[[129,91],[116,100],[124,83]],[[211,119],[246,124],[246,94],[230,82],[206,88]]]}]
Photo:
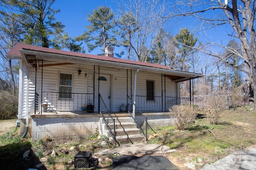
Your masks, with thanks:
[{"label": "black metal porch railing under the dark window right of the door", "polygon": [[[132,96],[133,100],[134,96]],[[147,96],[136,96],[136,106],[141,111],[169,111],[174,105],[189,104],[189,98],[154,96],[153,100],[147,100]]]}]

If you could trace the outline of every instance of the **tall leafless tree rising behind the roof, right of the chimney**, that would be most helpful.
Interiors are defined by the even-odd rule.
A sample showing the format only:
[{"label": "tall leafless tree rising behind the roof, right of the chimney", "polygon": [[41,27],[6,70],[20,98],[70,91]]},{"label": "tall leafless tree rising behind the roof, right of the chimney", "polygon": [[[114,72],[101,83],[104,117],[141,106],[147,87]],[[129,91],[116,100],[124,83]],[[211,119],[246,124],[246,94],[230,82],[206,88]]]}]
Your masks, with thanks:
[{"label": "tall leafless tree rising behind the roof, right of the chimney", "polygon": [[165,5],[159,0],[116,0],[118,12],[124,16],[121,29],[131,50],[130,57],[135,61],[148,62],[156,35],[166,21]]}]

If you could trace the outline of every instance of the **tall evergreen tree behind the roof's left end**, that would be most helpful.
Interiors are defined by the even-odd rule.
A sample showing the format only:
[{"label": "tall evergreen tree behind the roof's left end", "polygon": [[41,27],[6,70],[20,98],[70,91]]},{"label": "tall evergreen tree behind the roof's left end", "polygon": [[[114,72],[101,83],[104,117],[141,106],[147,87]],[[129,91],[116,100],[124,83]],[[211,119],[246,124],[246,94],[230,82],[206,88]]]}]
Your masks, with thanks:
[{"label": "tall evergreen tree behind the roof's left end", "polygon": [[1,0],[3,6],[15,10],[16,17],[22,18],[21,25],[26,30],[24,43],[41,47],[50,47],[50,35],[64,25],[55,21],[54,14],[60,10],[51,8],[55,0]]}]

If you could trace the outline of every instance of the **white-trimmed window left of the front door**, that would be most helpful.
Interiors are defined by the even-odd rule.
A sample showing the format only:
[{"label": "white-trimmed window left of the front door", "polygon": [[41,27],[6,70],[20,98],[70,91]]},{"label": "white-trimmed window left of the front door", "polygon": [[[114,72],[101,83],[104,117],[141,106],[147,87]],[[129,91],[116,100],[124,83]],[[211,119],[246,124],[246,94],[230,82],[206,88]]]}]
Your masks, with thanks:
[{"label": "white-trimmed window left of the front door", "polygon": [[59,74],[59,99],[72,99],[72,74]]}]

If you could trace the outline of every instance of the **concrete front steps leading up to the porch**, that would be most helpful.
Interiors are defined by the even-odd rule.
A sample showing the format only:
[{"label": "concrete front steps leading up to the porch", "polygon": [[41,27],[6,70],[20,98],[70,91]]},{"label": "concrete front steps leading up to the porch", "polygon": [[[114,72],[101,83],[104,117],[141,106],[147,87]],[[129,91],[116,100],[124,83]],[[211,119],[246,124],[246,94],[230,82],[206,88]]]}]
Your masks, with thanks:
[{"label": "concrete front steps leading up to the porch", "polygon": [[[142,135],[140,135],[140,129],[137,128],[136,123],[132,122],[131,117],[113,117],[115,119],[115,128],[116,128],[116,141],[120,144],[126,143],[137,143],[144,139]],[[106,135],[112,143],[114,140],[108,128],[106,127],[102,118],[100,118],[100,135]]]}]

